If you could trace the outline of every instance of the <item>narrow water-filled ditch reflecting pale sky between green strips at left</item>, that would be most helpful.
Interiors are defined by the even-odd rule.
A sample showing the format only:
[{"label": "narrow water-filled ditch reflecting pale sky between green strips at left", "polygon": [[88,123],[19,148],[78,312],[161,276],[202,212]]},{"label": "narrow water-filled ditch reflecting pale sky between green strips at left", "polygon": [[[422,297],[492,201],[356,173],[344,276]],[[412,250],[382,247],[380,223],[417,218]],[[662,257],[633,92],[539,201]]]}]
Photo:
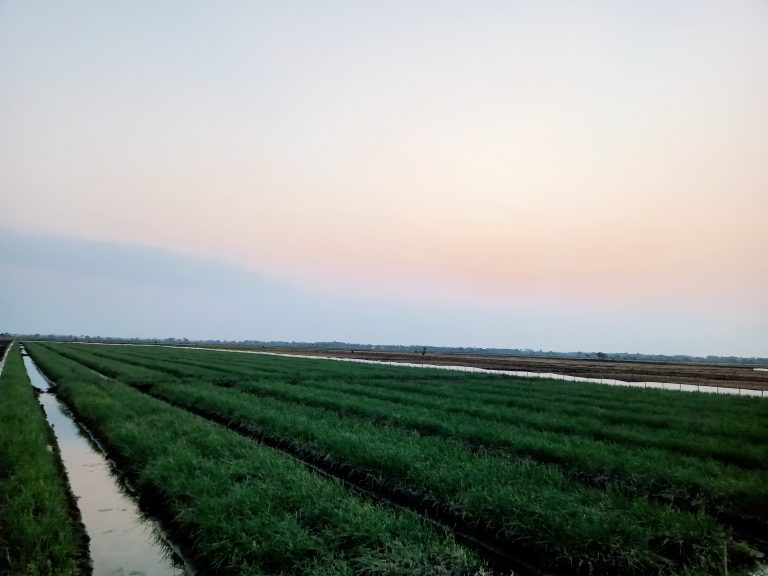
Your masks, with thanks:
[{"label": "narrow water-filled ditch reflecting pale sky between green strips at left", "polygon": [[28,356],[24,365],[53,428],[72,492],[90,537],[93,576],[184,576],[184,568],[136,502],[112,474],[101,452],[81,433],[69,411],[49,392]]}]

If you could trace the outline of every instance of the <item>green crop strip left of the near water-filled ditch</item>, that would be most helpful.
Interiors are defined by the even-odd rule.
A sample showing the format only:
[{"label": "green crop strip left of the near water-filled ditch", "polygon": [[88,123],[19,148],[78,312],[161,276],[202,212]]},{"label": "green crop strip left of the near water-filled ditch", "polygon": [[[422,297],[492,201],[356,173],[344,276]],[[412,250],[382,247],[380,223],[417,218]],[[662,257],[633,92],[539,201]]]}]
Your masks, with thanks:
[{"label": "green crop strip left of the near water-filled ditch", "polygon": [[0,574],[90,574],[87,538],[14,345],[0,375]]}]

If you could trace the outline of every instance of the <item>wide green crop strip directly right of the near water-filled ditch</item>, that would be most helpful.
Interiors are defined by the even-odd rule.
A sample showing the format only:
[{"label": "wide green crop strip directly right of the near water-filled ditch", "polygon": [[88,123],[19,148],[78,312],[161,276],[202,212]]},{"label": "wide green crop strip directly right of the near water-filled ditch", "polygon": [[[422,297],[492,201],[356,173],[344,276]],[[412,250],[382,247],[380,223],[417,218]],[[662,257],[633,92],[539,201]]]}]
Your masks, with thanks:
[{"label": "wide green crop strip directly right of the near water-filled ditch", "polygon": [[208,574],[479,574],[418,516],[367,502],[242,438],[41,347],[30,353]]}]

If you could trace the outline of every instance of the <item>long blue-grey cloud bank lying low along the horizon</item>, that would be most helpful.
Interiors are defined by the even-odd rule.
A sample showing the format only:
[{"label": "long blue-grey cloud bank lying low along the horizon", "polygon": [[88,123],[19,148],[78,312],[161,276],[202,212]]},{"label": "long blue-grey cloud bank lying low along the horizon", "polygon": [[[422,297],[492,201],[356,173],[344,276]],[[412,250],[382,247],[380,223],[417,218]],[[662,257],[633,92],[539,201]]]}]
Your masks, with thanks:
[{"label": "long blue-grey cloud bank lying low along the horizon", "polygon": [[338,297],[149,246],[0,229],[0,331],[550,350],[765,352],[765,314],[676,302]]}]

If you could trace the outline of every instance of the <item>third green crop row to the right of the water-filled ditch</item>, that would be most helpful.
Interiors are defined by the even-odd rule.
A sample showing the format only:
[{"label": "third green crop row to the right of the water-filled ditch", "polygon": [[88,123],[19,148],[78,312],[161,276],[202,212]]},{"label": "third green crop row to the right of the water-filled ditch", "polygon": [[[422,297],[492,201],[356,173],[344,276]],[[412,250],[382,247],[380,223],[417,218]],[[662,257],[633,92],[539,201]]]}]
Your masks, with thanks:
[{"label": "third green crop row to the right of the water-filled ditch", "polygon": [[[125,366],[123,366],[125,368]],[[588,484],[612,485],[686,507],[712,509],[720,516],[744,517],[768,507],[764,475],[711,459],[680,457],[642,447],[628,449],[572,438],[551,431],[500,425],[428,409],[327,394],[303,385],[235,383],[238,389],[304,406],[356,415],[419,433],[460,440],[475,449],[492,449],[560,465],[570,477]],[[285,410],[293,409],[285,406]],[[312,416],[308,416],[312,417]],[[731,521],[737,523],[736,518]]]}]

